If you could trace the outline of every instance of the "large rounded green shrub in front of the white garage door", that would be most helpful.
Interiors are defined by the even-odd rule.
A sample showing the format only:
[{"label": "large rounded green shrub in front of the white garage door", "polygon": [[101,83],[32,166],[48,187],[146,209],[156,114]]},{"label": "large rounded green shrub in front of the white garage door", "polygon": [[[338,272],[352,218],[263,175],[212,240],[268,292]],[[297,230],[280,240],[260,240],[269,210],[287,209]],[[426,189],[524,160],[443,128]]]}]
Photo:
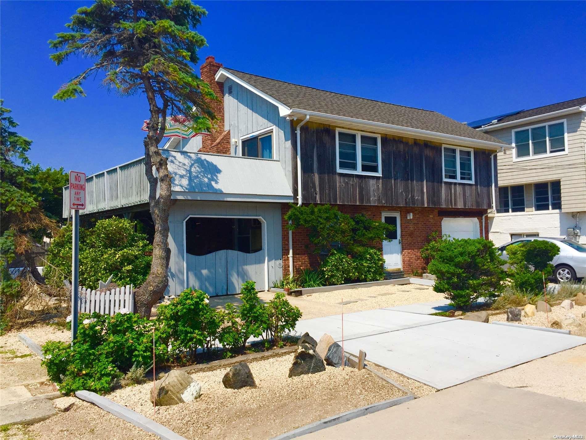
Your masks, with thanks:
[{"label": "large rounded green shrub in front of the white garage door", "polygon": [[479,298],[494,299],[502,292],[503,264],[492,241],[465,238],[439,242],[427,270],[437,277],[435,292],[468,309]]}]

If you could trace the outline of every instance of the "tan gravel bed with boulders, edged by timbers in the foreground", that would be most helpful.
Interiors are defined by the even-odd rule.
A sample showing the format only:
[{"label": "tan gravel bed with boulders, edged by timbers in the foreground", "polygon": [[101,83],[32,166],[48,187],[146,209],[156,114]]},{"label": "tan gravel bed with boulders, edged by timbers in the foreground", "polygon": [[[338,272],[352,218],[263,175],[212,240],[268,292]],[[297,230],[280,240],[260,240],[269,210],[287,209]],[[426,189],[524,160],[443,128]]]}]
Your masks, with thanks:
[{"label": "tan gravel bed with boulders, edged by timbers in the foreground", "polygon": [[[227,368],[193,374],[202,385],[194,402],[160,407],[155,421],[189,439],[268,439],[349,409],[400,397],[403,391],[367,370],[326,367],[288,378],[293,355],[251,363],[257,388],[227,390]],[[152,384],[122,388],[108,398],[152,418]]]}]

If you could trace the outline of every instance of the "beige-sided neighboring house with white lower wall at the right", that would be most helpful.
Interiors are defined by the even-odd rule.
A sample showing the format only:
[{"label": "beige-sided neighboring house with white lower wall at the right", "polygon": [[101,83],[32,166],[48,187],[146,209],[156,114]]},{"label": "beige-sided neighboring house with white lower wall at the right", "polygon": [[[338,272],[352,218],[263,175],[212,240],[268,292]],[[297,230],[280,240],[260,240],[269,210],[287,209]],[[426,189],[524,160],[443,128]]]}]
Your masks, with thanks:
[{"label": "beige-sided neighboring house with white lower wall at the right", "polygon": [[525,236],[586,243],[586,97],[468,125],[514,147],[498,154],[495,245]]}]

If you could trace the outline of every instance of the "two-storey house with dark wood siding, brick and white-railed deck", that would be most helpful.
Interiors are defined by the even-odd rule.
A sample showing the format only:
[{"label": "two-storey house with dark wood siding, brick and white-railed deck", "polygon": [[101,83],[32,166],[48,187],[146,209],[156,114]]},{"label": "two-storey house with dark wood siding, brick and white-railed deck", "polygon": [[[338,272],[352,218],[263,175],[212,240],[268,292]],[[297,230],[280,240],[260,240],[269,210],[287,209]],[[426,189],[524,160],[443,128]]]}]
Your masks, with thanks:
[{"label": "two-storey house with dark wood siding, brick and white-railed deck", "polygon": [[[307,231],[289,233],[290,203],[333,204],[396,226],[386,267],[421,270],[434,231],[488,236],[496,152],[505,142],[435,111],[397,106],[227,69],[207,57],[202,78],[219,129],[197,153],[169,143],[169,293],[259,289],[317,265]],[[195,143],[195,141],[194,141]],[[144,158],[87,178],[90,216],[149,220]],[[63,215],[67,209],[64,188]]]}]

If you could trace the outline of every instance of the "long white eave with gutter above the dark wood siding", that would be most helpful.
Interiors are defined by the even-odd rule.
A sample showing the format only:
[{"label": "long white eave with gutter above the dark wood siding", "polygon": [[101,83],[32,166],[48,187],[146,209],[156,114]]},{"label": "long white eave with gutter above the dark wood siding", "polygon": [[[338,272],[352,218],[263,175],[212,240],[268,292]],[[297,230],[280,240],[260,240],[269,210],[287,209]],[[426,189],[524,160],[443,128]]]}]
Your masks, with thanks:
[{"label": "long white eave with gutter above the dark wood siding", "polygon": [[363,119],[355,119],[346,116],[338,116],[335,114],[319,113],[317,111],[302,110],[302,109],[291,109],[291,114],[301,115],[309,114],[309,116],[321,117],[322,119],[329,119],[333,121],[343,121],[352,124],[359,124],[364,127],[376,127],[384,128],[385,130],[391,131],[394,134],[407,137],[415,137],[418,139],[439,141],[442,143],[454,143],[462,145],[464,147],[476,147],[483,148],[485,150],[512,150],[512,146],[508,144],[501,144],[499,142],[482,141],[478,139],[472,139],[463,136],[455,136],[453,134],[437,133],[435,131],[421,130],[419,128],[401,127],[393,124],[385,124],[375,121],[367,121]]}]

